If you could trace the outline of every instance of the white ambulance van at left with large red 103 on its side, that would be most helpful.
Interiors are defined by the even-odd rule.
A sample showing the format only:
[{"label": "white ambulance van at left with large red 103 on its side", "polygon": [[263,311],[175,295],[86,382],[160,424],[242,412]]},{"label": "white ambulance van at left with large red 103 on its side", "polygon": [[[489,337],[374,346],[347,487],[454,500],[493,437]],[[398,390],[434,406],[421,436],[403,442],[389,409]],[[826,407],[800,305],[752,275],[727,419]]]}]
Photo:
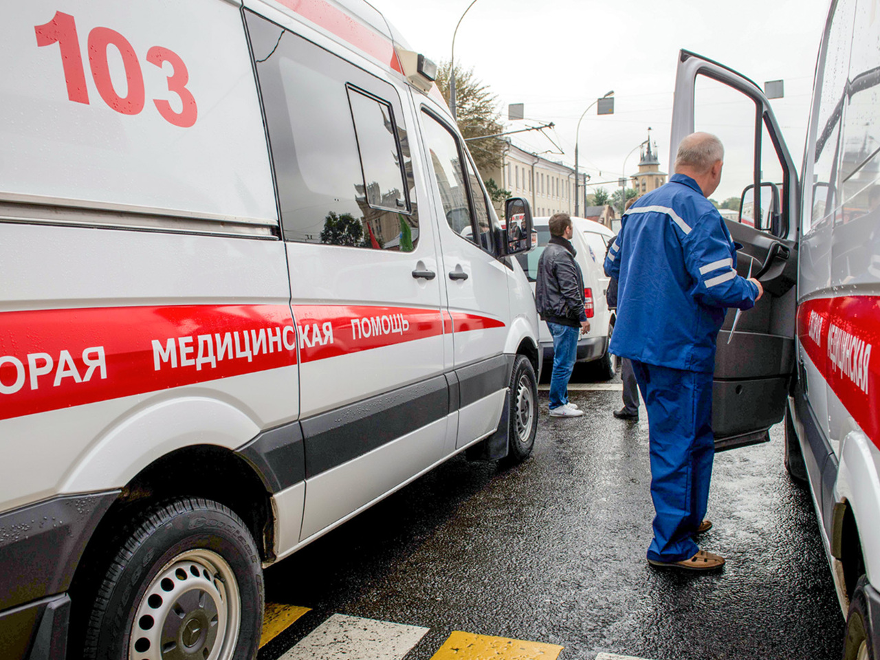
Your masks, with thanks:
[{"label": "white ambulance van at left with large red 103 on its side", "polygon": [[532,451],[529,246],[370,4],[33,0],[0,57],[4,660],[251,658],[264,567]]}]

